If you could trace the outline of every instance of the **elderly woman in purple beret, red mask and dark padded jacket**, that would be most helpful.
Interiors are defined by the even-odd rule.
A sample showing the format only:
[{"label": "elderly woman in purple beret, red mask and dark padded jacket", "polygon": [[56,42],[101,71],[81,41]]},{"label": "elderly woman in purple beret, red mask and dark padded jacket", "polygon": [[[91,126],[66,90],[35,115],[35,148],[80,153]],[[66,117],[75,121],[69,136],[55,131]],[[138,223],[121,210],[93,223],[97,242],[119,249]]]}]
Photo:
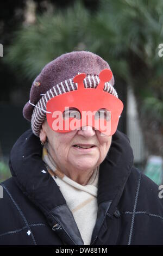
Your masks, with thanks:
[{"label": "elderly woman in purple beret, red mask and dark padded jacket", "polygon": [[162,199],[133,166],[122,110],[96,54],[66,53],[42,69],[23,108],[32,129],[1,184],[1,245],[163,244]]}]

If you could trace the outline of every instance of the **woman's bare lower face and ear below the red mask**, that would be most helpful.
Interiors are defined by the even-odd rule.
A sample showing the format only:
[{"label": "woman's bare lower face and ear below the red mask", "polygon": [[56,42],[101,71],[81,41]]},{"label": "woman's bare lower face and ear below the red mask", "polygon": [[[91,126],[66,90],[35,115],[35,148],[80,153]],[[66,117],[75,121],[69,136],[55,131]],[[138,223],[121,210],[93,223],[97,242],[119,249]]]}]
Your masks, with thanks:
[{"label": "woman's bare lower face and ear below the red mask", "polygon": [[[93,170],[105,159],[111,145],[112,136],[104,136],[100,131],[85,126],[82,130],[65,133],[55,132],[47,120],[42,124],[40,139],[48,138],[48,150],[60,169]],[[81,149],[74,145],[93,145],[90,149]]]}]

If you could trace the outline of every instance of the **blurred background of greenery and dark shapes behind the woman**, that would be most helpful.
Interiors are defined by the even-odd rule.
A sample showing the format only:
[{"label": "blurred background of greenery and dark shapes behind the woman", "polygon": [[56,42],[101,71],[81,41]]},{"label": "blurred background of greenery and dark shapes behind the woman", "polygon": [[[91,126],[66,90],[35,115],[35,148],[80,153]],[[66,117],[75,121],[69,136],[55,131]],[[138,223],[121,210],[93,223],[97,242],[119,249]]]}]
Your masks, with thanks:
[{"label": "blurred background of greenery and dark shapes behind the woman", "polygon": [[118,130],[130,139],[134,165],[162,184],[162,0],[1,1],[0,44],[0,181],[30,128],[22,108],[34,78],[62,53],[86,50],[111,66],[124,103]]}]

